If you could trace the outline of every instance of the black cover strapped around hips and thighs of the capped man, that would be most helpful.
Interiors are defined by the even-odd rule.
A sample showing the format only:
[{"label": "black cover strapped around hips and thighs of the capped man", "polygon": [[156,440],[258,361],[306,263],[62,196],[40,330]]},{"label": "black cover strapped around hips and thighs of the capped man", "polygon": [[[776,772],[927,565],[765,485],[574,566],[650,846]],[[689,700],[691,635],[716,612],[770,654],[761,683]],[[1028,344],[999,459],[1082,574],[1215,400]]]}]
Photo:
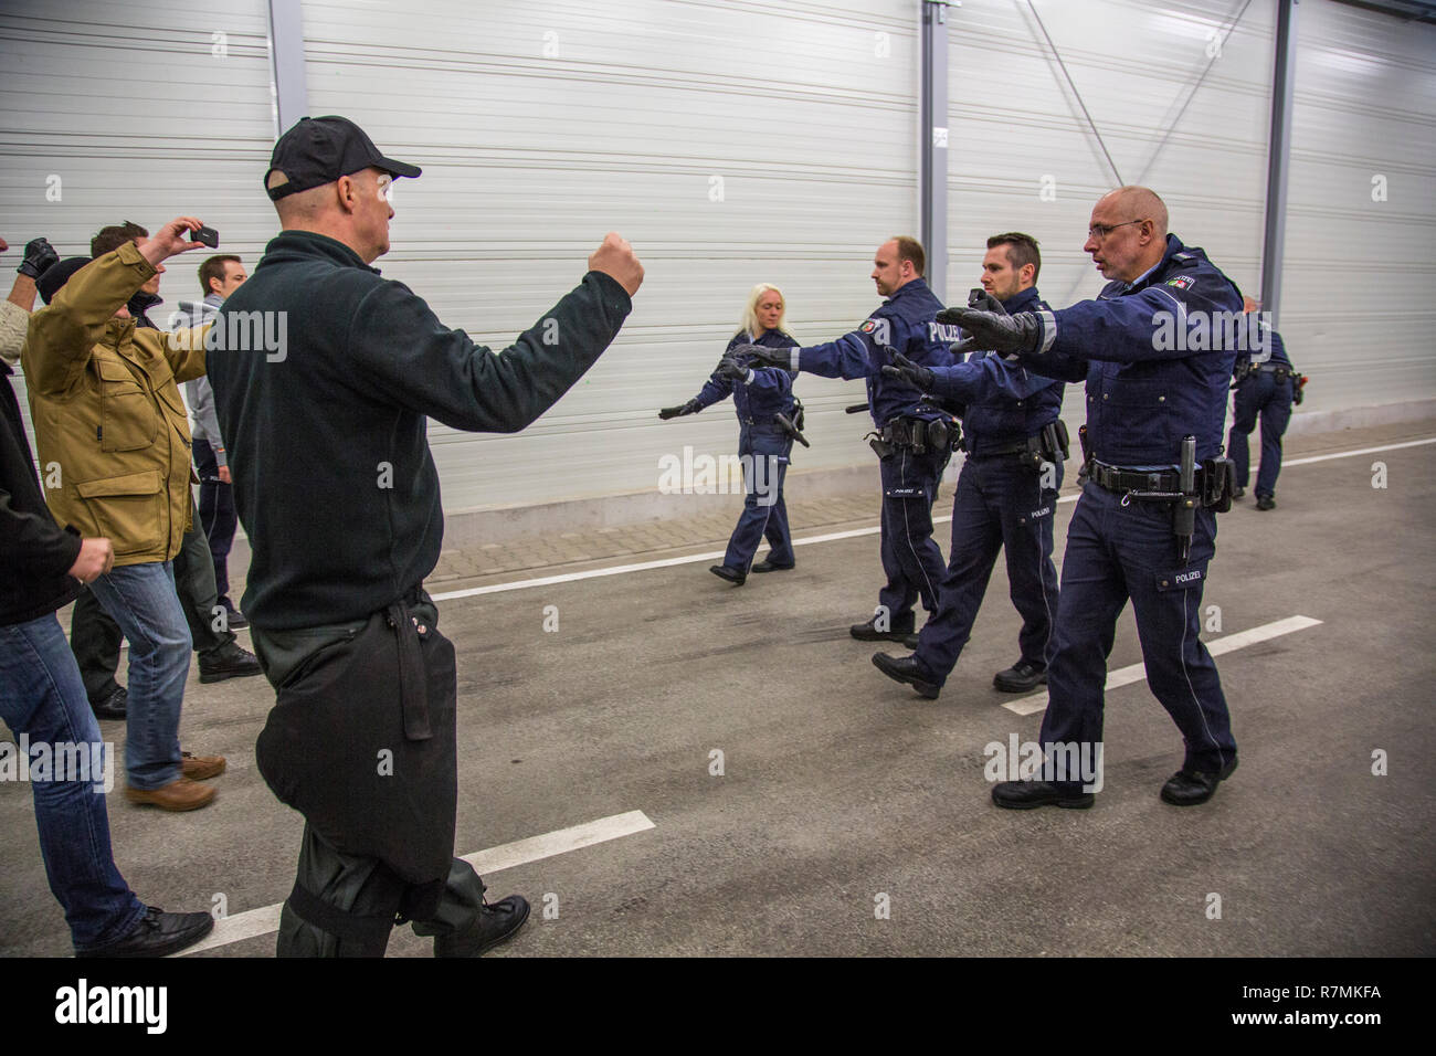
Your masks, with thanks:
[{"label": "black cover strapped around hips and thighs of the capped man", "polygon": [[418,920],[454,853],[457,690],[454,645],[395,602],[280,687],[254,746],[264,782],[330,846],[428,885],[404,907]]}]

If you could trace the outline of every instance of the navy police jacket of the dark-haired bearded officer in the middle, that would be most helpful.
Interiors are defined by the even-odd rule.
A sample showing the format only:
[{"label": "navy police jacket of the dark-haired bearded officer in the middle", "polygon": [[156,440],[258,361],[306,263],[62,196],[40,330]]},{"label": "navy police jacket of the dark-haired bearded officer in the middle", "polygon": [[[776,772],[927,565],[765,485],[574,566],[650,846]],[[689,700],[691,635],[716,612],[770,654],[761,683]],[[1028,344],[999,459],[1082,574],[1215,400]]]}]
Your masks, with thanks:
[{"label": "navy police jacket of the dark-haired bearded officer in the middle", "polygon": [[[1037,287],[1004,300],[1008,315],[1050,312]],[[984,455],[1037,435],[1063,411],[1060,381],[1010,363],[995,352],[974,352],[954,366],[933,369],[933,395],[966,404],[962,415],[964,448]]]}]

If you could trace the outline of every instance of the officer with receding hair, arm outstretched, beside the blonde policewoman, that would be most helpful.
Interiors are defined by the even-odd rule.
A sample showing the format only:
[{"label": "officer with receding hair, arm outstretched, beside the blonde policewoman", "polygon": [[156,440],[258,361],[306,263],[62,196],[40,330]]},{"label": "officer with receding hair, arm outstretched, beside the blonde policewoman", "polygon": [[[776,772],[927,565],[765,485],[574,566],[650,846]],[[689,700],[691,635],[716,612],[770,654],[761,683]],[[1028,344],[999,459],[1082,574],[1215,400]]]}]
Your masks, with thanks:
[{"label": "officer with receding hair, arm outstretched, beside the blonde policewoman", "polygon": [[864,642],[898,641],[916,645],[913,605],[931,616],[938,611],[942,550],[932,539],[932,500],[942,470],[952,457],[956,422],[946,411],[922,401],[922,392],[900,378],[883,375],[893,353],[920,366],[948,366],[948,345],[956,329],[939,326],[942,307],[922,273],[926,254],[916,238],[898,236],[877,247],[872,279],[886,300],[856,330],[834,342],[775,352],[761,345],[741,345],[735,353],[775,366],[807,371],[824,378],[863,378],[876,434],[883,483],[882,560],[887,583],[877,593],[877,611],[866,624],[850,628]]}]

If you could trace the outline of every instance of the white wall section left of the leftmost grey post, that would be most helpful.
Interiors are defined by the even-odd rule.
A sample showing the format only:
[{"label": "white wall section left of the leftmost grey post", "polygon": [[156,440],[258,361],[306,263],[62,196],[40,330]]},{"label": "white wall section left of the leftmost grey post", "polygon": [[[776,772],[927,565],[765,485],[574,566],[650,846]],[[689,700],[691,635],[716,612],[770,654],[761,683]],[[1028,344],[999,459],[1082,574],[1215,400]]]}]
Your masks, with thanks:
[{"label": "white wall section left of the leftmost grey post", "polygon": [[[192,214],[253,266],[274,233],[260,190],[274,145],[266,40],[263,0],[7,0],[0,237],[19,249],[45,236],[62,257],[89,256],[106,224],[155,230]],[[200,295],[202,259],[169,263],[157,323]]]}]

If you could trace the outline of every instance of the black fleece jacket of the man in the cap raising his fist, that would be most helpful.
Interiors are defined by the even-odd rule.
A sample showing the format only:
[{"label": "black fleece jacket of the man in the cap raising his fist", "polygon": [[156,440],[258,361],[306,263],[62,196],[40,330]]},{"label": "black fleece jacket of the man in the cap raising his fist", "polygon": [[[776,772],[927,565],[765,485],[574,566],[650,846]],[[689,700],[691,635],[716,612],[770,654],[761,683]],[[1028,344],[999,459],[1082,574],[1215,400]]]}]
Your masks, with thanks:
[{"label": "black fleece jacket of the man in the cap raising his fist", "polygon": [[207,341],[253,552],[244,615],[261,631],[322,626],[416,588],[444,537],[425,418],[517,432],[583,376],[630,310],[622,286],[589,272],[494,355],[343,243],[280,233]]}]

